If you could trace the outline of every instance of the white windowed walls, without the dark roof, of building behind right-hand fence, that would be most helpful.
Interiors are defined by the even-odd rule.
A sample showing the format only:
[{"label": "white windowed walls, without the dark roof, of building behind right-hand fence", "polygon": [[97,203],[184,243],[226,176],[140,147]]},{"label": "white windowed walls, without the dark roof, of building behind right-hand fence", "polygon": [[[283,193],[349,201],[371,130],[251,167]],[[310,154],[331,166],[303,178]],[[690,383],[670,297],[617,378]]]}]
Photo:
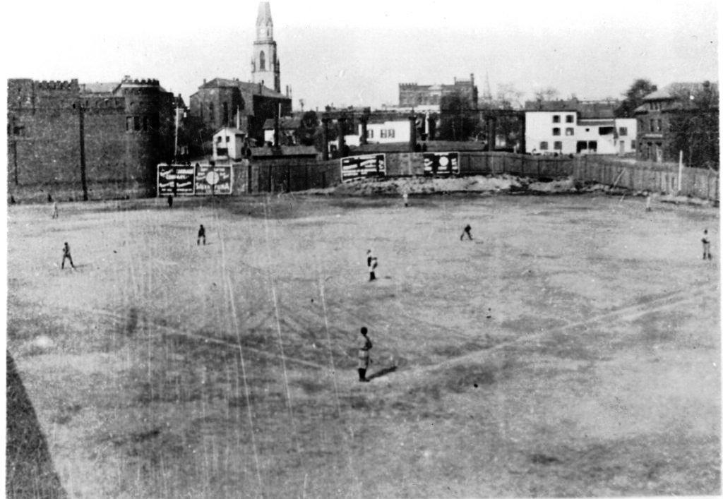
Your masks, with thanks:
[{"label": "white windowed walls, without the dark roof, of building behind right-hand fence", "polygon": [[579,119],[576,111],[527,111],[525,148],[531,154],[630,154],[635,119]]}]

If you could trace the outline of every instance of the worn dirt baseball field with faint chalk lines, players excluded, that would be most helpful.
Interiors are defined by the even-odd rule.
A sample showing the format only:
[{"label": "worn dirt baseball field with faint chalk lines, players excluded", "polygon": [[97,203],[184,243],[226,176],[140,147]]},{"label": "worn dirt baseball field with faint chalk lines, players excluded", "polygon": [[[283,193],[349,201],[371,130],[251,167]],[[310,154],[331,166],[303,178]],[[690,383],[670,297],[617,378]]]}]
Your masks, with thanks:
[{"label": "worn dirt baseball field with faint chalk lines, players excluded", "polygon": [[9,207],[8,349],[69,497],[721,493],[717,208],[410,200]]}]

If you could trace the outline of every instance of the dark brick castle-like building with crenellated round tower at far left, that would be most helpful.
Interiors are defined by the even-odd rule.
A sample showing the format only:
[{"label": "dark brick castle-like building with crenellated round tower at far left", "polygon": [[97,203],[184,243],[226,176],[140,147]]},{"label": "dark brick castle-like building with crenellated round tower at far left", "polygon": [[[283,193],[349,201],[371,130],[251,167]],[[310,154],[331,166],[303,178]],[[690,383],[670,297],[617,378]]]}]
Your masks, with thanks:
[{"label": "dark brick castle-like building with crenellated round tower at far left", "polygon": [[82,149],[88,182],[150,191],[174,154],[177,104],[157,80],[8,80],[9,187],[80,183]]}]

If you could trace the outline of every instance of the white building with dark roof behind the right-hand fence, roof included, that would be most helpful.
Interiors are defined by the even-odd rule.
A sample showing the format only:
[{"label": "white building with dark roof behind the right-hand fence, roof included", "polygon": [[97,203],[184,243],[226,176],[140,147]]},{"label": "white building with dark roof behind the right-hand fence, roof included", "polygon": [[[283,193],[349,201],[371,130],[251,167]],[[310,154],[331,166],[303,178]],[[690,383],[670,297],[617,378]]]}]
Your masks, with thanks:
[{"label": "white building with dark roof behind the right-hand fence, roof included", "polygon": [[526,153],[619,154],[636,150],[636,120],[615,118],[618,101],[545,101],[525,105]]}]

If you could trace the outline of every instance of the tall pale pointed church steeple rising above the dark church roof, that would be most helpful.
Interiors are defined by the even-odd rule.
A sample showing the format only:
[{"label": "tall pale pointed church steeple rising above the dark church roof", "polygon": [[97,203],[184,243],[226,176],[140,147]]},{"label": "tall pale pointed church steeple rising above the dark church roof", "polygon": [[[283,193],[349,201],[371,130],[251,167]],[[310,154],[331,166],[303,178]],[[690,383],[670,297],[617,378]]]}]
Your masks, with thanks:
[{"label": "tall pale pointed church steeple rising above the dark church roof", "polygon": [[254,82],[263,82],[265,87],[273,88],[276,92],[281,92],[281,65],[276,56],[271,6],[268,1],[259,2],[259,13],[256,17],[254,57],[251,62],[251,76]]}]

